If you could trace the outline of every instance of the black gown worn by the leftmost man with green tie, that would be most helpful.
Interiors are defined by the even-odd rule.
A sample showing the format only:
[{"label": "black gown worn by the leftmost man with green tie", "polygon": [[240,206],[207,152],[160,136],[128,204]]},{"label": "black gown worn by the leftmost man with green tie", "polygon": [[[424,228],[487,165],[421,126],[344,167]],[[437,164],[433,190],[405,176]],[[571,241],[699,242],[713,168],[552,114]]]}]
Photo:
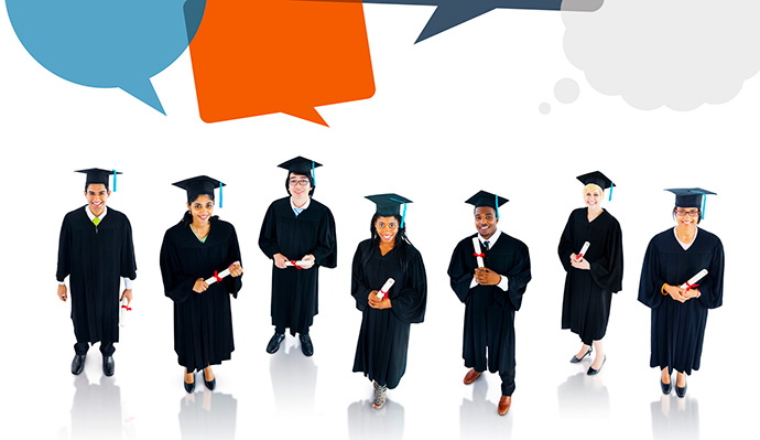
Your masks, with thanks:
[{"label": "black gown worn by the leftmost man with green tie", "polygon": [[118,342],[121,278],[137,277],[132,227],[126,215],[110,207],[95,226],[88,208],[64,217],[56,278],[62,282],[69,276],[77,342]]}]

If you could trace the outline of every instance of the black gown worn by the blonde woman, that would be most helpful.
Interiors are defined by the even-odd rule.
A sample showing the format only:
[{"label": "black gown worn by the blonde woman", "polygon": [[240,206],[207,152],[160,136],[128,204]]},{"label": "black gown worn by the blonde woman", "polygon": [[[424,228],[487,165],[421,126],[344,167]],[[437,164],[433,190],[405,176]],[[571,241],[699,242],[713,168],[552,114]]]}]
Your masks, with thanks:
[{"label": "black gown worn by the blonde woman", "polygon": [[[574,268],[571,254],[590,243],[584,257],[590,270]],[[606,210],[588,222],[588,208],[573,211],[557,248],[565,268],[562,328],[569,329],[590,345],[605,337],[612,293],[622,289],[622,233],[620,224]]]}]

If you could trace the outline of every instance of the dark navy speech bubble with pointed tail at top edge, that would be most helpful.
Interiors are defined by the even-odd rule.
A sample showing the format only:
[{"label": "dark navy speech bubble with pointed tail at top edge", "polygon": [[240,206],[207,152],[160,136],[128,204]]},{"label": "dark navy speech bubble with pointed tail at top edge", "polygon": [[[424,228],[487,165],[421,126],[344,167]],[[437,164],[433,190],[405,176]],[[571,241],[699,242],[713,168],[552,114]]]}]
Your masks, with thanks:
[{"label": "dark navy speech bubble with pointed tail at top edge", "polygon": [[594,12],[604,0],[306,0],[437,7],[415,44],[495,9]]}]

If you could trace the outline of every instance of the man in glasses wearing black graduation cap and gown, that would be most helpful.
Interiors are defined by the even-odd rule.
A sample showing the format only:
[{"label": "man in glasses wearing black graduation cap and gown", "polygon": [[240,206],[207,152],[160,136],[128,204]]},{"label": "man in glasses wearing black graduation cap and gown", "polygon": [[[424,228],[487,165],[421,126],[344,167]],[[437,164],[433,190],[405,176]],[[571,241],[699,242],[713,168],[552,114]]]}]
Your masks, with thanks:
[{"label": "man in glasses wearing black graduation cap and gown", "polygon": [[[308,328],[318,312],[319,267],[337,262],[335,219],[329,208],[311,198],[314,169],[321,163],[297,157],[279,165],[287,170],[285,189],[290,197],[269,205],[259,235],[259,247],[273,260],[272,325],[274,335],[267,353],[275,353],[285,339],[298,333],[301,351],[314,354]],[[303,261],[303,265],[297,265]]]}]

